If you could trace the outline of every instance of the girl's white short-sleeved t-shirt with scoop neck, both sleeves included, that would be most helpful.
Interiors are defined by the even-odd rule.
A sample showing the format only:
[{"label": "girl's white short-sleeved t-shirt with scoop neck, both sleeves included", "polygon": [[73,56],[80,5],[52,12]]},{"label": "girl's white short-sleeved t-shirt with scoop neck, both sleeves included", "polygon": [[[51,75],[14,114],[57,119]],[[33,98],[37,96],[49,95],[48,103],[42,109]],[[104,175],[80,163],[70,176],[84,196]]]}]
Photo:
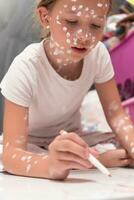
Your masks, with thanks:
[{"label": "girl's white short-sleeved t-shirt with scoop neck, both sleeves included", "polygon": [[80,77],[70,81],[52,68],[42,41],[14,59],[0,88],[8,100],[29,107],[29,135],[36,140],[56,136],[61,129],[77,132],[81,102],[89,88],[113,76],[110,56],[101,42],[85,57]]}]

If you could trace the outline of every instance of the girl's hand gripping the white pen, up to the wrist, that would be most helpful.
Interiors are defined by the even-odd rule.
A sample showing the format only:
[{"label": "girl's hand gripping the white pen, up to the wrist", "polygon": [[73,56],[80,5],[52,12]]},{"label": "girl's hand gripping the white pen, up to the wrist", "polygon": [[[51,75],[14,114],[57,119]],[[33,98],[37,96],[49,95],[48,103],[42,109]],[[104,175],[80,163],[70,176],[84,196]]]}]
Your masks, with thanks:
[{"label": "girl's hand gripping the white pen, up to the wrist", "polygon": [[89,169],[89,153],[96,151],[75,133],[59,135],[49,145],[48,174],[50,179],[65,179],[71,169]]}]

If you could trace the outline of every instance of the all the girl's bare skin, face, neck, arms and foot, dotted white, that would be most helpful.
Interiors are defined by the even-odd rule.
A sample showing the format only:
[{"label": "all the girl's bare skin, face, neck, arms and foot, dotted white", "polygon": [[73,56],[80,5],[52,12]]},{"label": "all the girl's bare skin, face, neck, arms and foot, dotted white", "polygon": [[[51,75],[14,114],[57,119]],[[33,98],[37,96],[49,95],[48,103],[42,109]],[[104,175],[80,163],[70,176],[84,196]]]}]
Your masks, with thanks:
[{"label": "all the girl's bare skin, face, neck, arms and foot, dotted white", "polygon": [[[98,0],[74,2],[59,0],[52,10],[44,7],[37,10],[42,27],[45,29],[50,26],[51,38],[44,44],[48,60],[57,73],[67,75],[72,80],[75,76],[79,77],[84,57],[102,37],[109,6],[108,0],[103,0],[101,4],[98,4]],[[76,11],[76,7],[77,12],[72,13]],[[61,12],[62,10],[64,12]],[[129,156],[134,158],[131,146],[134,142],[134,129],[128,127],[132,126],[131,121],[123,121],[122,128],[115,123],[120,121],[120,116],[126,119],[126,114],[121,107],[114,79],[101,84],[96,83],[96,89],[109,125],[118,134],[118,139]],[[115,107],[118,109],[111,106],[111,102],[116,102]],[[128,136],[126,126],[129,130],[127,138],[124,137],[125,134]],[[97,153],[89,149],[76,133],[57,136],[49,146],[48,155],[45,155],[27,150],[28,130],[29,108],[5,99],[3,162],[7,172],[30,177],[65,179],[71,169],[84,170],[92,167],[87,159],[88,155],[92,153],[96,156]],[[124,150],[106,152],[100,155],[99,159],[109,167],[129,164]]]}]

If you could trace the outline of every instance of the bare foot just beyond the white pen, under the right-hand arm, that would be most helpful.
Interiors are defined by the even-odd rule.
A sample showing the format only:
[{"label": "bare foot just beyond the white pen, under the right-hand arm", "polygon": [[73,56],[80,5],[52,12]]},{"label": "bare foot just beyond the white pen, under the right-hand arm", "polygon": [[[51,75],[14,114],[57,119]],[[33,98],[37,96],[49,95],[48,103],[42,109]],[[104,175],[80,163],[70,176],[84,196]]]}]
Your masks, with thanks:
[{"label": "bare foot just beyond the white pen, under the right-hand arm", "polygon": [[110,150],[98,158],[106,167],[125,167],[131,162],[125,149]]}]

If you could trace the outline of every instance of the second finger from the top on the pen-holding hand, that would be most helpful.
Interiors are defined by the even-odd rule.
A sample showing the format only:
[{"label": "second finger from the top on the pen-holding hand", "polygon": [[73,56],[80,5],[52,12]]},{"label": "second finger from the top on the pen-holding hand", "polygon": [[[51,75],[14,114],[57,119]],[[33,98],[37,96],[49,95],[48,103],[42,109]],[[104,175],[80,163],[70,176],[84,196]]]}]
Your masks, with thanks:
[{"label": "second finger from the top on the pen-holding hand", "polygon": [[62,142],[57,141],[55,144],[55,150],[62,152],[70,152],[83,159],[87,159],[89,156],[89,150],[87,148],[84,148],[71,140],[63,140]]}]

